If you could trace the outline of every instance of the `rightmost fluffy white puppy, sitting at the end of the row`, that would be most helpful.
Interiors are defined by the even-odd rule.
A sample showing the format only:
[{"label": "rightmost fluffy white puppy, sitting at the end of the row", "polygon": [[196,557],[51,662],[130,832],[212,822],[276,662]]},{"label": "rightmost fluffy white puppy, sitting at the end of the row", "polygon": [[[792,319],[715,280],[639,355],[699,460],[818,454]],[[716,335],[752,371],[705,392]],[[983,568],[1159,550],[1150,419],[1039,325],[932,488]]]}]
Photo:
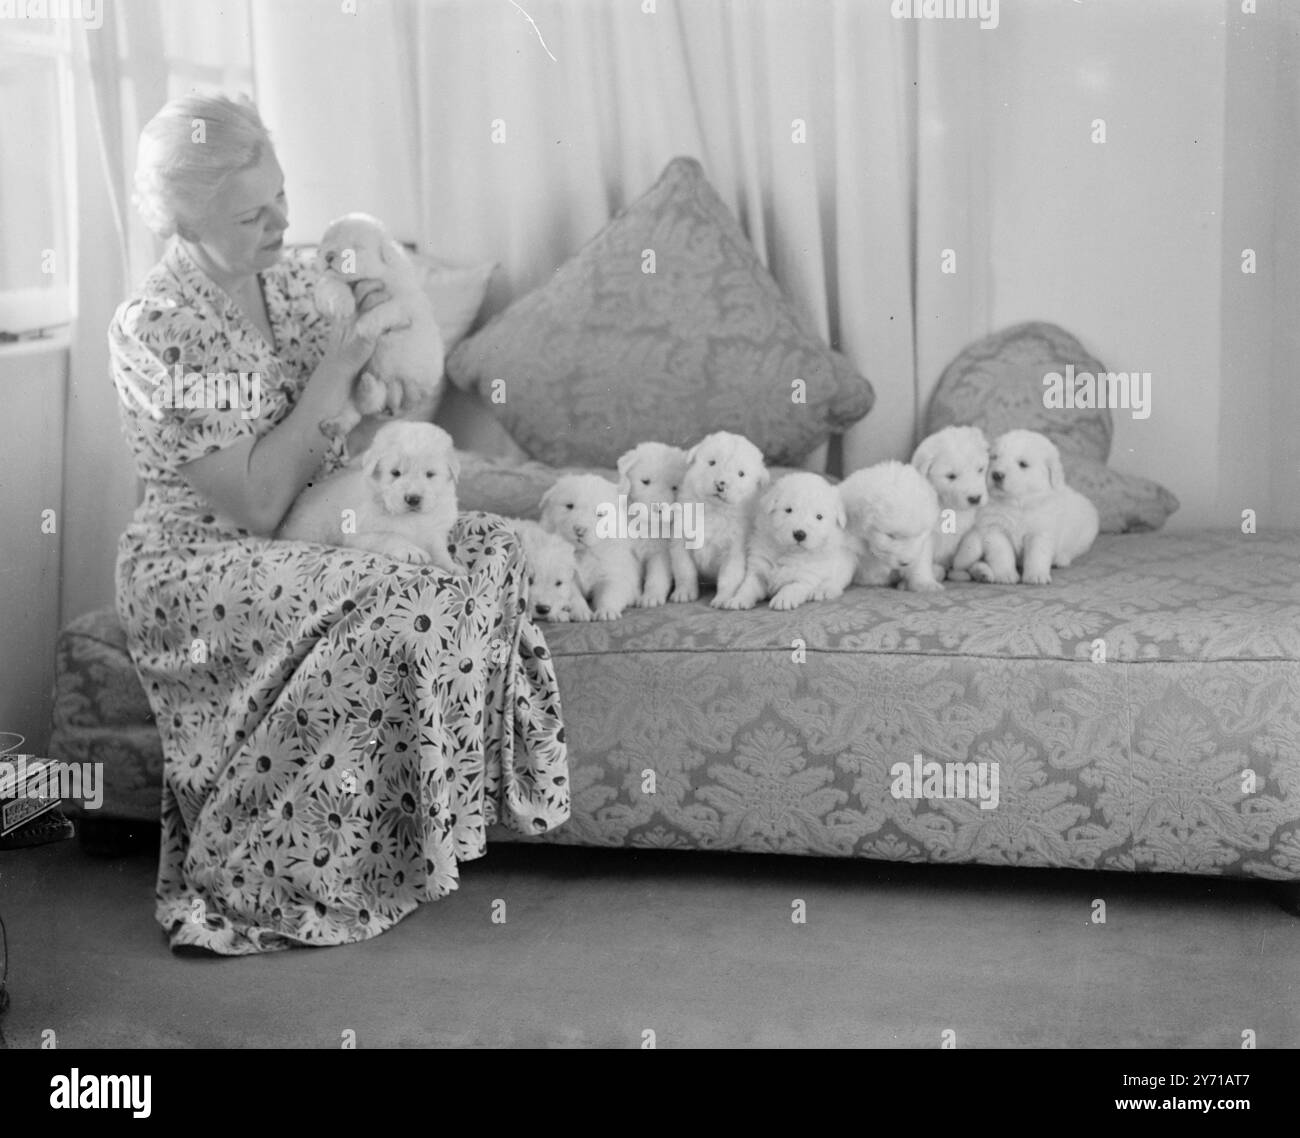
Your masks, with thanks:
[{"label": "rightmost fluffy white puppy, sitting at the end of the row", "polygon": [[[989,454],[989,502],[953,561],[978,581],[1046,585],[1052,566],[1092,548],[1097,507],[1065,484],[1061,454],[1036,430],[1008,430]],[[1017,574],[1017,567],[1020,572]]]}]

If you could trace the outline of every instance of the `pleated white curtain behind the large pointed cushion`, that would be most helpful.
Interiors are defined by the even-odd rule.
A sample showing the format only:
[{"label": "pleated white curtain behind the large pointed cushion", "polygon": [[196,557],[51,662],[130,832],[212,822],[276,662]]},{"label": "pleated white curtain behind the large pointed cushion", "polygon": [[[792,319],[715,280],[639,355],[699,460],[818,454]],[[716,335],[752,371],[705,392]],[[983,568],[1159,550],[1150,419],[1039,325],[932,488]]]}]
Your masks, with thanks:
[{"label": "pleated white curtain behind the large pointed cushion", "polygon": [[[441,256],[498,260],[499,307],[694,155],[786,294],[876,385],[846,464],[907,451],[915,23],[861,0],[524,7],[254,0],[291,237],[364,207]],[[508,449],[482,416],[447,417],[462,442]]]}]

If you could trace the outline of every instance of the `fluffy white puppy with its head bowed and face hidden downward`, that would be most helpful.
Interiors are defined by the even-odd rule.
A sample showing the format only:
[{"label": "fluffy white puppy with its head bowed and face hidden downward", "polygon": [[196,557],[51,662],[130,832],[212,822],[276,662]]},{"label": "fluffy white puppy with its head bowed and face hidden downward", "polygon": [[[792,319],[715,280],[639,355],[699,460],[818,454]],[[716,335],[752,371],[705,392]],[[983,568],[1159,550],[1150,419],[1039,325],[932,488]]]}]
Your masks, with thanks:
[{"label": "fluffy white puppy with its head bowed and face hidden downward", "polygon": [[857,540],[859,585],[900,581],[915,592],[933,592],[935,527],[939,496],[920,471],[901,462],[881,462],[854,471],[838,485]]}]

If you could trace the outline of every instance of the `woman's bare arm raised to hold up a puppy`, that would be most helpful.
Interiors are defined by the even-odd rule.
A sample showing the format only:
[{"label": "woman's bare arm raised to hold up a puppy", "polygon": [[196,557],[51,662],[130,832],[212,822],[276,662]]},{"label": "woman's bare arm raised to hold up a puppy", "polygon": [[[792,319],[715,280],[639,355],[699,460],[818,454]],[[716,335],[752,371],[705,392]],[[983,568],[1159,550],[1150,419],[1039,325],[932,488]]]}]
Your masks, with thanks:
[{"label": "woman's bare arm raised to hold up a puppy", "polygon": [[[369,310],[385,299],[368,291],[359,304]],[[237,524],[269,537],[330,449],[322,419],[338,414],[377,337],[359,336],[355,325],[338,347],[321,358],[289,415],[263,434],[178,467],[185,480]]]}]

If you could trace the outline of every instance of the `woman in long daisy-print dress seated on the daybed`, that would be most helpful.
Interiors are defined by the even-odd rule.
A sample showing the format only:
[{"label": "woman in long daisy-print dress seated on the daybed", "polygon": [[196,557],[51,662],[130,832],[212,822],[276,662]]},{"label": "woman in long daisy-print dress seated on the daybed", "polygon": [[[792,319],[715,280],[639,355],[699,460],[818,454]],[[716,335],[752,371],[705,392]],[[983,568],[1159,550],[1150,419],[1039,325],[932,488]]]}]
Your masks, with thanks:
[{"label": "woman in long daisy-print dress seated on the daybed", "polygon": [[486,826],[568,817],[523,555],[482,514],[452,532],[459,577],[269,540],[348,458],[320,423],[374,342],[315,311],[252,105],[168,104],[136,187],[170,238],[109,330],[144,486],[117,609],[162,735],[157,920],[173,948],[226,955],[374,936],[454,890]]}]

